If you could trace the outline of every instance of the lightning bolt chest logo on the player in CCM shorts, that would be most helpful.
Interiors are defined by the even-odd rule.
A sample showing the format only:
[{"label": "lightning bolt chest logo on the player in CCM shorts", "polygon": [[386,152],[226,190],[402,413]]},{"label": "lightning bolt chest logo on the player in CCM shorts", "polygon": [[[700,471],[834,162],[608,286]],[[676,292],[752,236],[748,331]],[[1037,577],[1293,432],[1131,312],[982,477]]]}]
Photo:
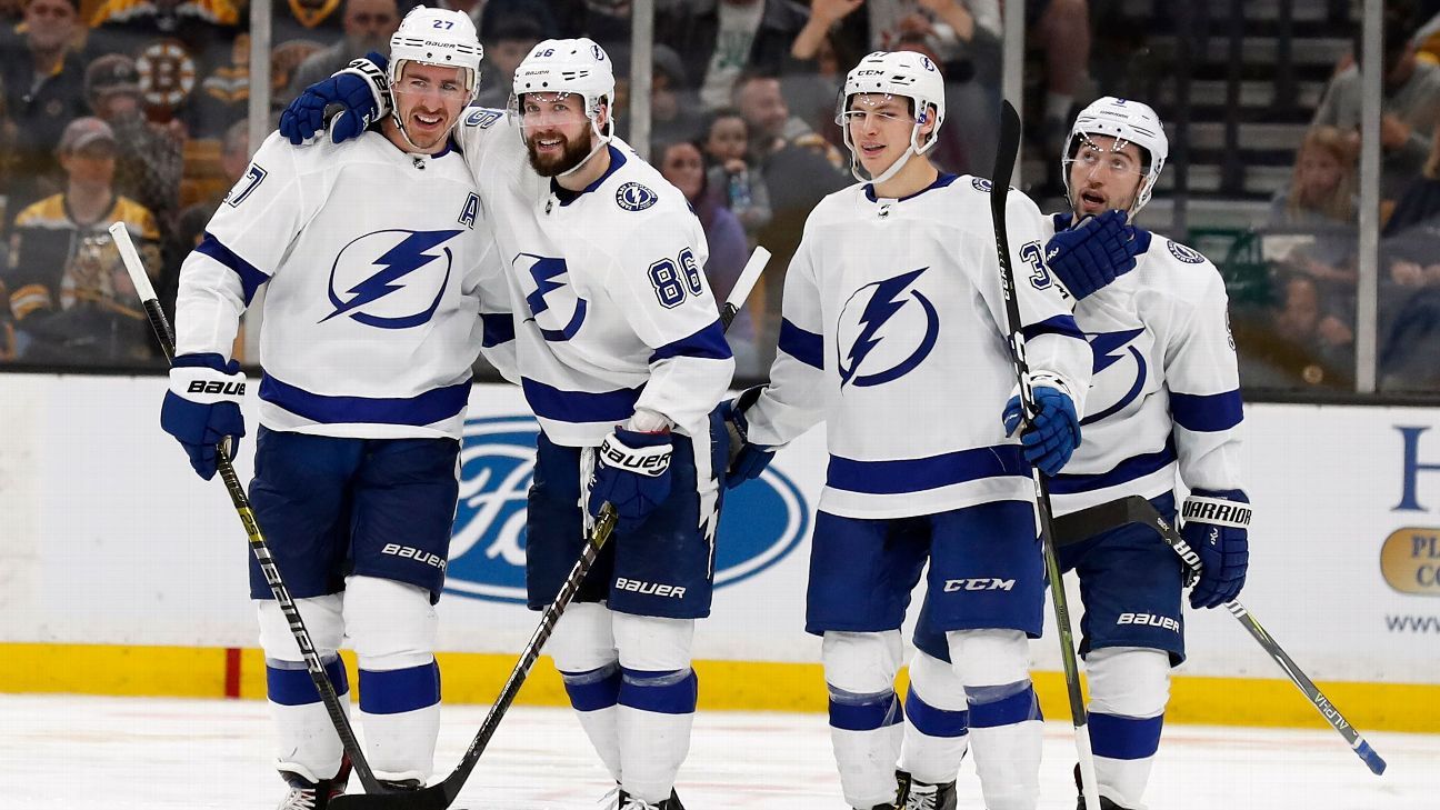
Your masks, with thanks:
[{"label": "lightning bolt chest logo on the player in CCM shorts", "polygon": [[940,336],[935,304],[912,287],[922,267],[855,290],[840,311],[835,350],[840,385],[865,388],[910,373]]}]

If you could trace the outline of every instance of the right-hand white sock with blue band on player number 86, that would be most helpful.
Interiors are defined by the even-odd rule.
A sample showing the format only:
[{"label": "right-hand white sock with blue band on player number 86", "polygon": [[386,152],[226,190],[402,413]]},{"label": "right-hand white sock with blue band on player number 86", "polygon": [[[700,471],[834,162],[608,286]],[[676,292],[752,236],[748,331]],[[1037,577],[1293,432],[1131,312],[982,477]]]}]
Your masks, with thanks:
[{"label": "right-hand white sock with blue band on player number 86", "polygon": [[618,726],[621,785],[652,804],[670,798],[690,752],[698,682],[690,667],[652,672],[622,667]]}]

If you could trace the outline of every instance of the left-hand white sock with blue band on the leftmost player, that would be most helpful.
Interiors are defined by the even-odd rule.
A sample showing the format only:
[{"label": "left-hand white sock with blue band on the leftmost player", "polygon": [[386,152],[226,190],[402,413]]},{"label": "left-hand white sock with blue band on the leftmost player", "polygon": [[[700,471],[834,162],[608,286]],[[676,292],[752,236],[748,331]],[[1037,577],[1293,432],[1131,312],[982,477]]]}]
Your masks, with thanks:
[{"label": "left-hand white sock with blue band on the leftmost player", "polygon": [[[334,653],[324,660],[340,705],[348,709],[350,682],[344,663]],[[304,662],[266,659],[265,692],[278,732],[275,767],[312,783],[334,778],[344,748]]]}]

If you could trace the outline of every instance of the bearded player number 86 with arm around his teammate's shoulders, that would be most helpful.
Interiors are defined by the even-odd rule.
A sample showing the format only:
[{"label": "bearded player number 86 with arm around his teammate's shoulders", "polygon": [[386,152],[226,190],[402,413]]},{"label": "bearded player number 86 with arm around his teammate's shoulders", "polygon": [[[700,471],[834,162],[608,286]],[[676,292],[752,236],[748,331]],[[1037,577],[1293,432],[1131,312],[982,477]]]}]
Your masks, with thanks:
[{"label": "bearded player number 86 with arm around his teammate's shoulders", "polygon": [[[346,135],[389,101],[359,61],[298,98],[300,141],[328,104]],[[360,92],[367,104],[347,102]],[[684,196],[613,135],[615,78],[589,39],[546,40],[514,74],[508,114],[474,110],[461,150],[492,221],[513,300],[526,399],[540,422],[526,584],[553,601],[609,502],[619,528],[549,651],[622,810],[683,810],[694,620],[710,613],[719,461],[710,411],[734,360]],[[518,320],[518,319],[517,319]],[[716,422],[719,428],[719,422]]]}]

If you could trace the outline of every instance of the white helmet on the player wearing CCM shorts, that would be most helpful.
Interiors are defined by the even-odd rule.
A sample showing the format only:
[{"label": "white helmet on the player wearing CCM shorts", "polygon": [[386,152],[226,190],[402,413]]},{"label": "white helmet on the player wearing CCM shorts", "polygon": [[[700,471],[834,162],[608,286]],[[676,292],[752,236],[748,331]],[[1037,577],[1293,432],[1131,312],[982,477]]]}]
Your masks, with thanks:
[{"label": "white helmet on the player wearing CCM shorts", "polygon": [[[855,144],[850,138],[850,127],[845,125],[845,112],[850,110],[850,99],[858,94],[878,94],[909,98],[914,107],[914,127],[910,130],[910,147],[890,169],[878,177],[870,179],[860,173],[860,160],[855,157]],[[919,143],[920,127],[929,121],[930,108],[935,108],[935,128],[930,130],[924,143]],[[940,125],[945,124],[945,76],[924,53],[913,50],[876,50],[865,56],[858,65],[845,74],[845,85],[840,91],[835,102],[835,123],[840,124],[845,147],[850,148],[850,173],[860,182],[883,183],[910,159],[910,156],[924,154],[940,138]]]}]

